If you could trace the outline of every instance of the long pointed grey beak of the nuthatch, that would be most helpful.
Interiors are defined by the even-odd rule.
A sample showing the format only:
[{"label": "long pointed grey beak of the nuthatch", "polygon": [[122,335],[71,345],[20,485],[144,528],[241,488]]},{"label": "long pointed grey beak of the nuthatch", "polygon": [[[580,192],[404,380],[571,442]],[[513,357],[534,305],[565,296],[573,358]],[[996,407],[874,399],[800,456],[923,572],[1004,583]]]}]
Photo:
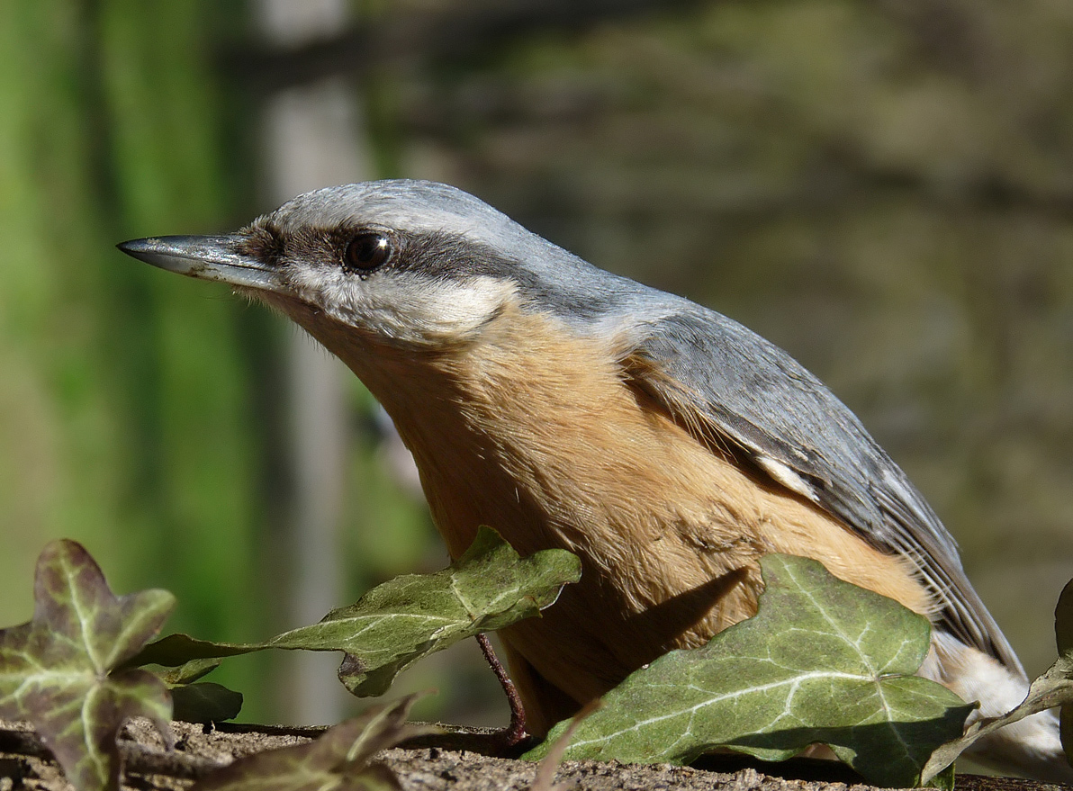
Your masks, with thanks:
[{"label": "long pointed grey beak of the nuthatch", "polygon": [[155,236],[116,245],[138,261],[180,275],[219,280],[260,291],[282,292],[275,268],[247,252],[249,239],[242,234],[222,236]]}]

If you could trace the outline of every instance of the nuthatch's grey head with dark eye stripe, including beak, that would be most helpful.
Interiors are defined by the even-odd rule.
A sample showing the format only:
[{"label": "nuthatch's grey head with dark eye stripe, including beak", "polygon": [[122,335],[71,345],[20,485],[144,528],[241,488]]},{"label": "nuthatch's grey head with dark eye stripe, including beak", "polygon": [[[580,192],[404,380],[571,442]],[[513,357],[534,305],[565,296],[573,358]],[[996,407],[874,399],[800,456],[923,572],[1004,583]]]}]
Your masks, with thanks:
[{"label": "nuthatch's grey head with dark eye stripe, including beak", "polygon": [[588,332],[637,288],[472,195],[428,181],[332,187],[233,234],[151,237],[119,249],[230,283],[321,340],[330,326],[409,348],[466,342],[510,306]]}]

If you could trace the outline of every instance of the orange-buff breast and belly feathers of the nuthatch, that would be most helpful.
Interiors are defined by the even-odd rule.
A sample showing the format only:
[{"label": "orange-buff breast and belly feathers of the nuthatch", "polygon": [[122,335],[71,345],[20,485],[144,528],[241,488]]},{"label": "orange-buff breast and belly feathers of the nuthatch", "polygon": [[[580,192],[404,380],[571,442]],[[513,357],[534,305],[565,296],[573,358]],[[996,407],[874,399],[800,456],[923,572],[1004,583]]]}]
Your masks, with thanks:
[{"label": "orange-buff breast and belly feathers of the nuthatch", "polygon": [[[694,439],[631,386],[608,348],[540,317],[421,361],[380,350],[348,362],[413,452],[453,556],[479,525],[523,555],[580,556],[580,582],[504,635],[575,701],[751,615],[768,552],[835,558],[832,571],[872,589],[888,568],[880,584],[854,578],[871,556],[897,565]],[[907,601],[915,583],[905,587],[896,598],[926,609]]]}]

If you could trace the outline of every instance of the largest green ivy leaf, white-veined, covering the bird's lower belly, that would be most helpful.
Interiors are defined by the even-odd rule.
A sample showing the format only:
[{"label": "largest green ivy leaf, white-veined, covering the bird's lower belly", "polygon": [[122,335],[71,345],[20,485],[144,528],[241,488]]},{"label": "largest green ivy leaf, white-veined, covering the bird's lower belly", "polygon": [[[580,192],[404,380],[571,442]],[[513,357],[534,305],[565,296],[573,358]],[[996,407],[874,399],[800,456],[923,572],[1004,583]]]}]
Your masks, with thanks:
[{"label": "largest green ivy leaf, white-veined, covering the bird's lower belly", "polygon": [[[972,706],[915,673],[930,625],[814,560],[767,555],[753,618],[633,673],[577,729],[568,759],[685,763],[730,748],[782,761],[811,744],[879,786],[920,782]],[[539,759],[560,723],[526,757]]]}]

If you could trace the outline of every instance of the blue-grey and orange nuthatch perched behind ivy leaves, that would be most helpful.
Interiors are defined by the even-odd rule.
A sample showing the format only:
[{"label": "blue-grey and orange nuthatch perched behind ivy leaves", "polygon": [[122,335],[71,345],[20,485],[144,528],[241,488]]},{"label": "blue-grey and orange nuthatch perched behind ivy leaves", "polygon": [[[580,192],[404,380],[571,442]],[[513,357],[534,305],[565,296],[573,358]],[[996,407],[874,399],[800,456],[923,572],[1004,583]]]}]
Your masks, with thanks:
[{"label": "blue-grey and orange nuthatch perched behind ivy leaves", "polygon": [[[500,632],[541,735],[632,671],[756,612],[760,558],[821,560],[926,616],[920,674],[979,716],[1028,679],[957,544],[861,421],[734,320],[605,272],[480,199],[389,179],[299,195],[234,233],[120,244],[304,327],[377,397],[453,557],[489,525],[582,561]],[[976,758],[1068,781],[1043,713]]]}]

